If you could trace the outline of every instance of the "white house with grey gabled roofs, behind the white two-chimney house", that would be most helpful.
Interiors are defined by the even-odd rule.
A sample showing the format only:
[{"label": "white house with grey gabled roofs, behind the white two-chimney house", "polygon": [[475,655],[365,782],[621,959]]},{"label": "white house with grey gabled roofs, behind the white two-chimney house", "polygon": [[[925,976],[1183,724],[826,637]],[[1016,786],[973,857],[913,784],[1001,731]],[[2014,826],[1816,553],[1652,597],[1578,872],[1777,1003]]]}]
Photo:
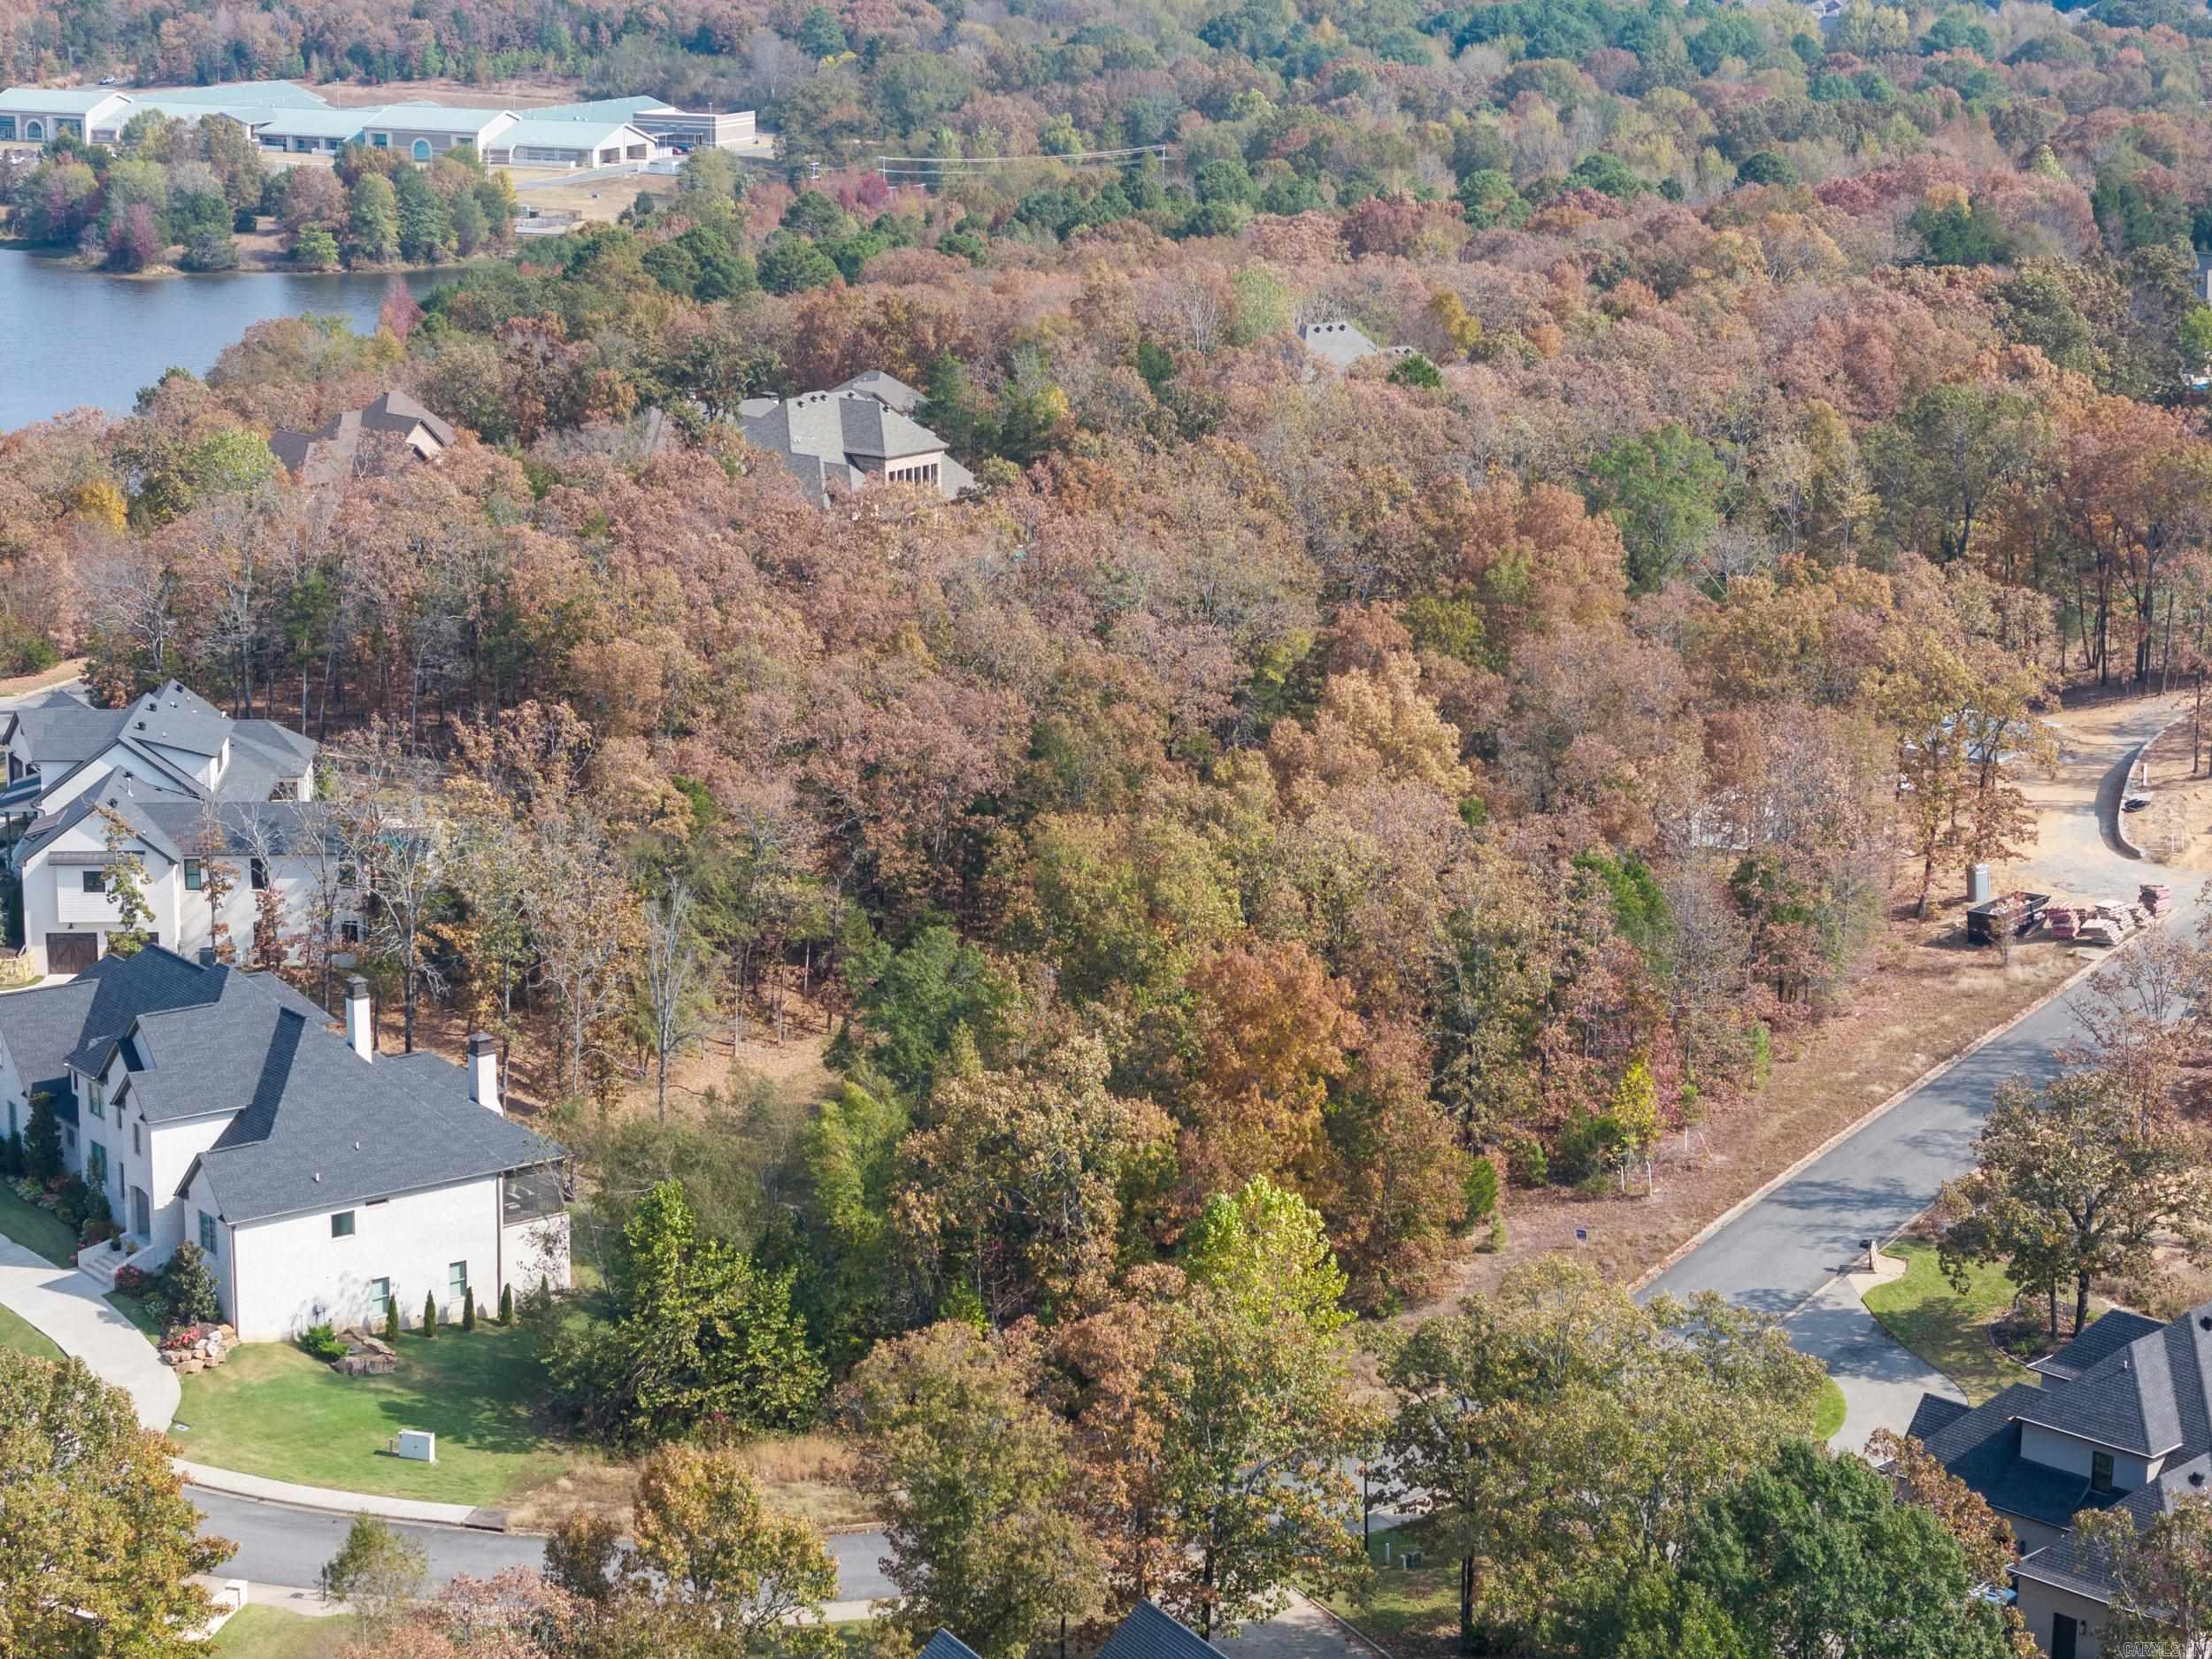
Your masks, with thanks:
[{"label": "white house with grey gabled roofs, behind the white two-chimney house", "polygon": [[106,814],[146,867],[155,938],[175,949],[212,942],[210,856],[232,869],[221,920],[241,942],[261,891],[283,896],[296,931],[341,874],[301,805],[314,794],[314,741],[276,721],[234,721],[175,679],[124,708],[49,692],[0,717],[0,827],[13,832],[24,947],[44,973],[82,973],[115,927]]}]

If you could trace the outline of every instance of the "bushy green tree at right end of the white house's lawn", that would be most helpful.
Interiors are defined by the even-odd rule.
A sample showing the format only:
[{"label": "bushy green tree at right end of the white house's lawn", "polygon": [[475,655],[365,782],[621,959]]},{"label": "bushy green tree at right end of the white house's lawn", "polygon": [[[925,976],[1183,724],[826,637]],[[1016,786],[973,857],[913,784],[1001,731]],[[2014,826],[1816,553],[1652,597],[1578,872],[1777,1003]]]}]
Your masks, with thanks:
[{"label": "bushy green tree at right end of the white house's lawn", "polygon": [[622,1230],[619,1318],[562,1334],[549,1369],[568,1409],[622,1444],[672,1440],[708,1420],[790,1429],[814,1416],[825,1376],[792,1314],[792,1274],[768,1274],[703,1239],[677,1181]]}]

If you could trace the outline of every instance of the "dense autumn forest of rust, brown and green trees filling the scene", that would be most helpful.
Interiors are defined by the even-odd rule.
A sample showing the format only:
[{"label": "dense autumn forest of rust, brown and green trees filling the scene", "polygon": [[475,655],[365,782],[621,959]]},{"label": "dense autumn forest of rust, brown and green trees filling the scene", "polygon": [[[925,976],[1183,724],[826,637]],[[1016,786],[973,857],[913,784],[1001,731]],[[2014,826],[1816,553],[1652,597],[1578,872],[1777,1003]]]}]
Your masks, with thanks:
[{"label": "dense autumn forest of rust, brown and green trees filling the scene", "polygon": [[[305,263],[478,259],[374,334],[265,323],[131,416],[0,434],[0,657],[296,723],[358,845],[434,854],[378,876],[363,967],[409,1044],[500,1031],[577,1152],[613,1298],[551,1349],[582,1429],[836,1400],[911,1535],[929,1458],[998,1455],[1055,1584],[1208,1628],[1267,1599],[1190,1577],[1230,1520],[1267,1593],[1360,1573],[1349,1316],[1449,1292],[1515,1188],[1648,1188],[1659,1137],[1756,1113],[1891,920],[2024,843],[2033,717],[2212,648],[2179,2],[0,0],[0,60],[549,75],[779,131],[491,259],[473,157],[51,146],[15,228],[111,259],[226,208]],[[1338,372],[1314,323],[1391,349]],[[748,398],[865,369],[925,394],[960,500],[825,511],[745,445]],[[438,465],[276,467],[272,429],[392,387],[460,429]],[[812,1097],[668,1086],[794,1006]],[[664,1376],[699,1307],[741,1380]],[[1559,1263],[1383,1336],[1398,1455],[1562,1321],[1588,1365],[1453,1442],[1500,1646],[1692,1650],[1710,1606],[1774,1613],[1730,1579],[1765,1504],[1891,1513],[1776,1451],[1816,1378],[1763,1323]],[[1230,1520],[1223,1376],[1294,1438],[1234,1447],[1265,1473]],[[1938,1566],[1973,1630],[1929,1650],[2004,1650]]]}]

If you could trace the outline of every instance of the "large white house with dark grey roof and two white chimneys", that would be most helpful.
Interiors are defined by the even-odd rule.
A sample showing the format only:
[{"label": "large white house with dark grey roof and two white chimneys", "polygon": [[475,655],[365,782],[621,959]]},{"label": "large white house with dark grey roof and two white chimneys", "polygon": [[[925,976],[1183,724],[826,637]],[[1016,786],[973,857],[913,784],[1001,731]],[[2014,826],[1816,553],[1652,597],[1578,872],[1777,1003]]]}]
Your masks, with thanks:
[{"label": "large white house with dark grey roof and two white chimneys", "polygon": [[69,1172],[124,1228],[119,1250],[77,1265],[113,1283],[192,1241],[250,1343],[427,1296],[460,1318],[471,1298],[566,1287],[564,1150],[507,1117],[498,1066],[491,1037],[469,1040],[467,1066],[378,1055],[363,980],[338,1035],[314,1002],[212,951],[104,956],[0,998],[9,1126],[51,1097]]}]

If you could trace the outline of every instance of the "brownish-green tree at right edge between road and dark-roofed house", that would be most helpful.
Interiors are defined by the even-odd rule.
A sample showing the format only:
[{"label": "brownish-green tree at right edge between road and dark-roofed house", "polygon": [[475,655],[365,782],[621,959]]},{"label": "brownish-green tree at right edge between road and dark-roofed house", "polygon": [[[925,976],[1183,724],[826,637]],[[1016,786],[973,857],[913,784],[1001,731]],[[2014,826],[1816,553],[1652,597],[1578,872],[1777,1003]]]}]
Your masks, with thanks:
[{"label": "brownish-green tree at right edge between road and dark-roofed house", "polygon": [[2088,1287],[2126,1279],[2172,1241],[2192,1256],[2212,1243],[2212,1170],[2188,1130],[2146,1110],[2110,1075],[2077,1071],[2044,1088],[2011,1082],[1975,1137],[1975,1168],[1944,1183],[1938,1212],[1944,1274],[2002,1261],[2022,1290],[2039,1290],[2057,1336],[2059,1285],[2073,1285],[2075,1329]]}]

